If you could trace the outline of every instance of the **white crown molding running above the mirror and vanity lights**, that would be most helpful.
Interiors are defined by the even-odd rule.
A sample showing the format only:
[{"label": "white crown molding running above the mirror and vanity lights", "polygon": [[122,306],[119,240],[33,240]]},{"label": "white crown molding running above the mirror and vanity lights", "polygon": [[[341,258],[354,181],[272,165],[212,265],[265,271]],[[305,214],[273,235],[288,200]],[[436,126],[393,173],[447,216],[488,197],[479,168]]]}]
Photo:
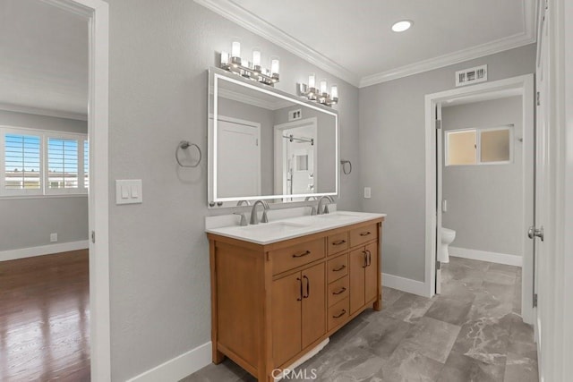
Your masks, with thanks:
[{"label": "white crown molding running above the mirror and vanity lights", "polygon": [[282,30],[273,26],[260,17],[248,12],[243,7],[235,4],[231,0],[194,0],[195,3],[210,9],[214,13],[225,17],[227,20],[235,22],[245,30],[268,39],[270,42],[283,47],[290,53],[298,55],[305,61],[314,64],[322,70],[337,76],[351,85],[358,86],[360,77],[350,72],[345,67],[335,63],[328,57],[321,55],[316,50],[304,45],[302,42],[286,34]]}]

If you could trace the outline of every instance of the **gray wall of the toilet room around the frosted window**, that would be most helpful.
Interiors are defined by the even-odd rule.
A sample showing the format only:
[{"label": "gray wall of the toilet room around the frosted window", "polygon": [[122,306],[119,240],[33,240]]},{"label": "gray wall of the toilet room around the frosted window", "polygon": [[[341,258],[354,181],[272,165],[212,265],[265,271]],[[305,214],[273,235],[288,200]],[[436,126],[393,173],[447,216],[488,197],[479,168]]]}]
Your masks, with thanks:
[{"label": "gray wall of the toilet room around the frosted window", "polygon": [[[509,165],[444,166],[442,225],[456,230],[453,247],[522,256],[523,138],[521,97],[443,107],[444,132],[514,123]],[[445,161],[444,161],[445,163]]]}]

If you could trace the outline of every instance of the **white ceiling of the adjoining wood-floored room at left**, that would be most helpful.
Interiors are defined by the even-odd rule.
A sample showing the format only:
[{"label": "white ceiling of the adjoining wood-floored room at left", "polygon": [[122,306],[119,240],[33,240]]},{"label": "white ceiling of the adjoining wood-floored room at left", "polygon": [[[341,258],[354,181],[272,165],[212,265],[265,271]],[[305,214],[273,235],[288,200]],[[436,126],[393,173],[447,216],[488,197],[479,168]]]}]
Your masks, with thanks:
[{"label": "white ceiling of the adjoining wood-floored room at left", "polygon": [[0,0],[0,109],[84,119],[88,21],[39,0]]}]

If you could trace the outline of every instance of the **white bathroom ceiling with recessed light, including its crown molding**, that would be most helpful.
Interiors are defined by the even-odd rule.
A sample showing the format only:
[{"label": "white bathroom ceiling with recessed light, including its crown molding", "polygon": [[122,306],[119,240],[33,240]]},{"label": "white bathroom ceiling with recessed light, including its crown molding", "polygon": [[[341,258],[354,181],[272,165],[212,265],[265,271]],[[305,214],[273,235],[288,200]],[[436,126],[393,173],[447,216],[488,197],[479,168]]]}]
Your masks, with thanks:
[{"label": "white bathroom ceiling with recessed light, including its crown molding", "polygon": [[195,1],[356,86],[535,42],[535,0]]}]

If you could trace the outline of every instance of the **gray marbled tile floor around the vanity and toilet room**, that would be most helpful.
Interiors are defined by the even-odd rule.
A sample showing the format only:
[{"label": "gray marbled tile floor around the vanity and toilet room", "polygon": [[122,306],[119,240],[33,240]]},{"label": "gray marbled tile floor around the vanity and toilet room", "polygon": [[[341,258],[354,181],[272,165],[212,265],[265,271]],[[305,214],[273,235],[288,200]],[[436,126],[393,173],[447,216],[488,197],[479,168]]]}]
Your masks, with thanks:
[{"label": "gray marbled tile floor around the vanity and toilet room", "polygon": [[[521,268],[451,258],[439,296],[384,287],[382,300],[383,310],[364,311],[285,380],[537,381],[533,329],[519,316]],[[182,382],[254,380],[226,360]]]}]

